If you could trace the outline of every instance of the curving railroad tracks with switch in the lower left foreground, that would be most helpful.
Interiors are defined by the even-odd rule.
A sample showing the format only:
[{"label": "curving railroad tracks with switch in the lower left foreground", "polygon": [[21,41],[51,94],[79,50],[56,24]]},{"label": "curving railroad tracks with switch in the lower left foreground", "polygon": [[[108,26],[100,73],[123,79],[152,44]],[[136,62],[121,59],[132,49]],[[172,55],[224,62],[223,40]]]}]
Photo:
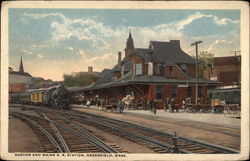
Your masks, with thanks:
[{"label": "curving railroad tracks with switch in the lower left foreground", "polygon": [[[43,117],[27,115],[20,112],[10,112],[10,115],[18,117],[32,125],[34,131],[39,129],[39,139],[43,143],[47,153],[117,153],[114,148],[106,145],[94,135],[80,127],[72,127],[70,121],[42,114]],[[57,120],[57,122],[55,121]],[[60,123],[59,123],[60,122]]]}]

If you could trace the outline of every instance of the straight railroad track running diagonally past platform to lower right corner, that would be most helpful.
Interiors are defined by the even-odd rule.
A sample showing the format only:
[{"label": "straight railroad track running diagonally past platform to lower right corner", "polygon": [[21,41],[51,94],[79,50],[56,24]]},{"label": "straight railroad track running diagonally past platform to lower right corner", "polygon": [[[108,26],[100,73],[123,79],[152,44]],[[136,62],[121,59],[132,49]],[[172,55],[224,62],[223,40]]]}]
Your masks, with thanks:
[{"label": "straight railroad track running diagonally past platform to lower right corner", "polygon": [[[32,107],[30,107],[32,108]],[[34,108],[34,107],[33,107]],[[44,108],[35,108],[52,114],[60,114],[61,120],[66,117],[74,124],[91,124],[103,131],[118,135],[138,144],[153,149],[156,153],[199,153],[199,154],[231,154],[239,153],[230,149],[199,140],[176,136],[173,133],[166,133],[148,127],[115,120],[103,116],[97,116],[84,112],[56,111]]]}]

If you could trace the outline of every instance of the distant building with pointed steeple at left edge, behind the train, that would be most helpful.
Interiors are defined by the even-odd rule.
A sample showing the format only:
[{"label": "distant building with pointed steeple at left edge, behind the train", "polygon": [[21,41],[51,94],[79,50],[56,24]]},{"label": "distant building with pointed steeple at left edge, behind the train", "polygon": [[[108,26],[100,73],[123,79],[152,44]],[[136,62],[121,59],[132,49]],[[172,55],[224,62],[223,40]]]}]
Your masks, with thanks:
[{"label": "distant building with pointed steeple at left edge, behind the train", "polygon": [[24,72],[22,57],[18,71],[13,71],[13,69],[9,67],[9,93],[24,92],[31,84],[31,81],[32,76]]}]

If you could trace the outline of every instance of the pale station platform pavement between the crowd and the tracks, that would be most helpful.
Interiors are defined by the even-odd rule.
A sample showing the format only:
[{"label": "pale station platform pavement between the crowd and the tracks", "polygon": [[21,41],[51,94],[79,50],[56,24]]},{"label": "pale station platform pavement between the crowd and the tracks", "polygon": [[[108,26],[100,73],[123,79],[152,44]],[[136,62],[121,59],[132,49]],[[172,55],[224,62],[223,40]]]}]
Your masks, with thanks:
[{"label": "pale station platform pavement between the crowd and the tracks", "polygon": [[[101,111],[101,107],[97,106],[83,106],[83,105],[73,105],[74,108],[88,108],[93,110]],[[105,112],[105,109],[103,109]],[[107,111],[109,112],[109,111]],[[217,113],[187,113],[187,112],[175,112],[170,113],[164,110],[157,110],[156,114],[145,111],[145,110],[124,110],[123,114],[126,115],[133,115],[153,120],[159,121],[167,121],[167,120],[178,120],[178,121],[190,121],[190,122],[197,122],[197,123],[204,123],[204,124],[211,124],[211,125],[218,125],[224,127],[233,127],[236,129],[240,129],[240,122],[238,115],[235,114],[217,114]]]}]

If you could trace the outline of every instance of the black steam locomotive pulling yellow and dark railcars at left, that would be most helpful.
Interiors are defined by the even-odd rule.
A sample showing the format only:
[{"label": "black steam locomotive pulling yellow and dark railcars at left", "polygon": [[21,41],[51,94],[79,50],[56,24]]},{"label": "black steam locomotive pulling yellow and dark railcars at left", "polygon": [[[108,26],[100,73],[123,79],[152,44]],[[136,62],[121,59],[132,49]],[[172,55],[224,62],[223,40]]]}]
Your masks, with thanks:
[{"label": "black steam locomotive pulling yellow and dark railcars at left", "polygon": [[70,109],[70,95],[64,85],[30,89],[23,93],[10,94],[12,103],[47,105],[58,109]]}]

